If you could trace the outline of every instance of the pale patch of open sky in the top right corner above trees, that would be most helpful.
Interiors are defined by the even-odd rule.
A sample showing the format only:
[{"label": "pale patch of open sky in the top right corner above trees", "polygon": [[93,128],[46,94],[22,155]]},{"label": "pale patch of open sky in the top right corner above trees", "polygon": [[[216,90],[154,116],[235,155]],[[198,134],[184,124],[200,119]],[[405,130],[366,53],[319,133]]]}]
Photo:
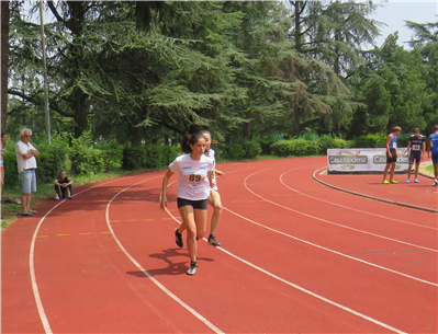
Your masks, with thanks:
[{"label": "pale patch of open sky in the top right corner above trees", "polygon": [[404,42],[411,39],[412,31],[405,26],[404,21],[416,23],[438,21],[438,0],[389,0],[388,2],[374,0],[373,3],[379,4],[379,8],[371,18],[386,24],[381,27],[382,36],[377,39],[379,46],[388,35],[398,31],[398,44],[407,48]]}]

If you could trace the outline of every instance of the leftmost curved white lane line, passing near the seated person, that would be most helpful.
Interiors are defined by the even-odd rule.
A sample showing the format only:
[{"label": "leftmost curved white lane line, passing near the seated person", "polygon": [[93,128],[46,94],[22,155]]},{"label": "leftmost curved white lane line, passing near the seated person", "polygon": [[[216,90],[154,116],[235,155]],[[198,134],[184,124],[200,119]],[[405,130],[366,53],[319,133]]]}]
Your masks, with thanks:
[{"label": "leftmost curved white lane line, passing near the seated person", "polygon": [[[128,177],[134,177],[134,176],[123,177],[123,180],[128,178]],[[105,184],[109,184],[109,183],[113,183],[113,182],[116,182],[116,181],[121,181],[121,178],[112,180],[112,181],[109,181],[109,182],[105,182],[105,183],[98,184],[98,185],[92,186],[92,187],[89,187],[89,188],[87,188],[87,189],[85,189],[85,191],[82,191],[82,192],[79,192],[78,194],[76,194],[76,195],[74,195],[74,196],[77,196],[77,195],[82,194],[82,193],[86,193],[86,192],[88,192],[88,191],[90,191],[90,189],[92,189],[92,188],[96,188],[96,187],[99,187],[99,186],[101,186],[101,185],[105,185]],[[37,285],[37,283],[36,283],[36,274],[35,274],[35,241],[36,241],[36,235],[38,234],[40,228],[41,228],[41,226],[43,224],[43,221],[46,219],[46,217],[47,217],[55,208],[57,208],[58,206],[60,206],[60,205],[61,205],[63,203],[65,203],[65,201],[66,201],[66,199],[64,199],[64,200],[59,201],[58,204],[56,204],[56,205],[55,205],[50,210],[48,210],[47,214],[45,214],[44,217],[40,220],[38,224],[37,224],[36,228],[35,228],[35,232],[33,233],[33,237],[32,237],[31,250],[30,250],[30,254],[29,254],[29,269],[30,269],[30,274],[31,274],[32,291],[33,291],[33,296],[34,296],[34,299],[35,299],[36,309],[37,309],[38,314],[40,314],[40,320],[41,320],[41,322],[42,322],[42,324],[43,324],[44,332],[47,333],[47,334],[52,334],[53,332],[52,332],[52,327],[50,327],[50,324],[49,324],[49,322],[48,322],[46,312],[45,312],[45,310],[44,310],[43,301],[42,301],[41,295],[40,295],[38,285]]]}]

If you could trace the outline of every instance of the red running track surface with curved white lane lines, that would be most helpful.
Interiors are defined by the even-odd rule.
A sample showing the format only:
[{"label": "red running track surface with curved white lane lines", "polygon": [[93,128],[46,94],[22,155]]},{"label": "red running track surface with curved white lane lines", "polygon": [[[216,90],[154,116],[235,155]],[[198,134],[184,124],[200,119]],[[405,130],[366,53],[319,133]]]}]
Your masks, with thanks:
[{"label": "red running track surface with curved white lane lines", "polygon": [[[317,183],[325,163],[221,164],[223,247],[199,241],[193,277],[172,238],[175,183],[170,211],[159,210],[164,171],[46,201],[1,235],[0,332],[437,333],[438,216]],[[318,175],[377,197],[437,200],[425,180],[332,176]]]}]

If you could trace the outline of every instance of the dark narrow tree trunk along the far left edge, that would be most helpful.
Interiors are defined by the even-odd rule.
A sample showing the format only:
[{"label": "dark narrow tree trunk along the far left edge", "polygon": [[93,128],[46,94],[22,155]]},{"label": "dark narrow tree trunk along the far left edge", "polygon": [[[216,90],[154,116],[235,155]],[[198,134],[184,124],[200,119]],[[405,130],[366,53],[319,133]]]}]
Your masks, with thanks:
[{"label": "dark narrow tree trunk along the far left edge", "polygon": [[0,134],[7,130],[9,0],[0,0]]}]

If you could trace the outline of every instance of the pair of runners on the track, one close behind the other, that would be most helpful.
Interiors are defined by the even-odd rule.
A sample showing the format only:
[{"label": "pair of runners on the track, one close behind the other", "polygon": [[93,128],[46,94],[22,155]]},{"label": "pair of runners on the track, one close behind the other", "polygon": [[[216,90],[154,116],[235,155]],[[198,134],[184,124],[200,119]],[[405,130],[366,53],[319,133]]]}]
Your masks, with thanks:
[{"label": "pair of runners on the track, one close behind the other", "polygon": [[220,246],[215,233],[221,219],[222,203],[218,194],[216,175],[223,173],[215,169],[214,150],[211,148],[212,136],[203,130],[194,135],[186,135],[181,141],[181,150],[186,154],[179,156],[170,163],[162,178],[160,198],[161,210],[166,209],[166,191],[169,178],[178,173],[177,205],[182,218],[181,226],[175,230],[176,243],[183,247],[182,232],[187,231],[187,247],[190,255],[188,275],[196,273],[196,241],[203,238],[206,230],[207,206],[213,207],[209,244]]}]

